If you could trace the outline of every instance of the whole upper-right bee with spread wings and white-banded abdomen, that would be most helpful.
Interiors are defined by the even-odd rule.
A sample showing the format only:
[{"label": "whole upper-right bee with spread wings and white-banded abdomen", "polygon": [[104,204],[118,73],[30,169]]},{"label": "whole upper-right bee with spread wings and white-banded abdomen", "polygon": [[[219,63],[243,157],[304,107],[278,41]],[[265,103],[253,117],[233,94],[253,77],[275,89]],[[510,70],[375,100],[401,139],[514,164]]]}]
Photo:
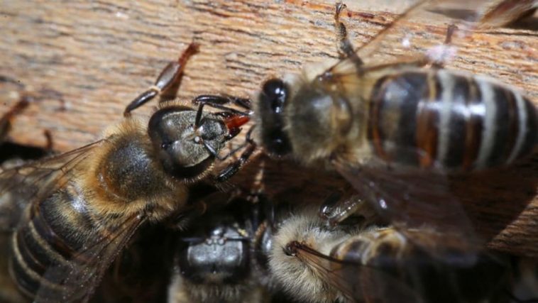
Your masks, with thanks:
[{"label": "whole upper-right bee with spread wings and white-banded abdomen", "polygon": [[[538,121],[536,107],[517,89],[443,67],[455,40],[487,22],[490,1],[466,2],[418,1],[357,51],[339,19],[345,6],[337,4],[341,60],[264,82],[253,101],[253,142],[275,158],[336,170],[402,231],[427,225],[470,250],[478,246],[482,239],[451,194],[449,178],[532,155]],[[442,14],[471,8],[460,23]],[[511,12],[496,13],[517,18]],[[451,22],[443,41],[430,41],[424,55],[412,58],[378,56],[405,31],[397,25],[432,13]]]}]

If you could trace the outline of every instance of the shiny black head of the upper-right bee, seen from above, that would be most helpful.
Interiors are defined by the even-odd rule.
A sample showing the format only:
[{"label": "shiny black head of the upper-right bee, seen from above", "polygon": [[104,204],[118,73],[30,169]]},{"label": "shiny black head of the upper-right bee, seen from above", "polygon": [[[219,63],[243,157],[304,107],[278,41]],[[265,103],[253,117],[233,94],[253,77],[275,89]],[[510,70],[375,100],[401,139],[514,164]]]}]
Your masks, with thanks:
[{"label": "shiny black head of the upper-right bee, seen from above", "polygon": [[270,79],[263,84],[258,96],[261,141],[267,152],[276,156],[287,155],[292,150],[290,139],[284,131],[288,95],[289,89],[281,79]]}]

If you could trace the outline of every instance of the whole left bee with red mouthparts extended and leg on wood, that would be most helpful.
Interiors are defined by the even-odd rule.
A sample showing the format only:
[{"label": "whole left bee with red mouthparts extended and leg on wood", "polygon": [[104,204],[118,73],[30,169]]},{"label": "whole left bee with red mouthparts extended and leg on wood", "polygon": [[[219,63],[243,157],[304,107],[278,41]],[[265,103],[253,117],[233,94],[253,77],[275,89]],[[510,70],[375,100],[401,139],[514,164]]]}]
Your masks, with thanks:
[{"label": "whole left bee with red mouthparts extended and leg on wood", "polygon": [[190,189],[224,182],[241,163],[213,175],[225,144],[248,114],[164,102],[147,121],[130,112],[177,83],[192,43],[153,87],[126,106],[103,139],[0,175],[0,221],[13,231],[9,270],[34,302],[87,302],[104,271],[140,226],[180,216]]}]

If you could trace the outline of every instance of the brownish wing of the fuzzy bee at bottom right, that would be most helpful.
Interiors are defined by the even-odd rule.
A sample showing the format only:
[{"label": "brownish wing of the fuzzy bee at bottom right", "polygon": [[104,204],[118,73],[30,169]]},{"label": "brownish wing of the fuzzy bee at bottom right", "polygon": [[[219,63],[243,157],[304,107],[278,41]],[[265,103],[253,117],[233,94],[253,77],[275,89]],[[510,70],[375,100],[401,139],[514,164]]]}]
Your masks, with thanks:
[{"label": "brownish wing of the fuzzy bee at bottom right", "polygon": [[422,302],[415,290],[383,270],[362,264],[358,255],[341,261],[298,244],[297,258],[315,268],[322,280],[350,302]]}]

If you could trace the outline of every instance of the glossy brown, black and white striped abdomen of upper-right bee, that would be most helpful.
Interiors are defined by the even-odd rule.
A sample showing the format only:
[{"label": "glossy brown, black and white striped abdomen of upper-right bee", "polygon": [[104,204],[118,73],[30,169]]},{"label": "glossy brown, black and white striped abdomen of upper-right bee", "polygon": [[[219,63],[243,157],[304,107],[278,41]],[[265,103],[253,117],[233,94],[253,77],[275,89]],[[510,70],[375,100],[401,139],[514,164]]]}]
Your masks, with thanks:
[{"label": "glossy brown, black and white striped abdomen of upper-right bee", "polygon": [[409,71],[378,80],[368,139],[386,161],[445,171],[509,164],[533,152],[537,110],[482,77]]}]

